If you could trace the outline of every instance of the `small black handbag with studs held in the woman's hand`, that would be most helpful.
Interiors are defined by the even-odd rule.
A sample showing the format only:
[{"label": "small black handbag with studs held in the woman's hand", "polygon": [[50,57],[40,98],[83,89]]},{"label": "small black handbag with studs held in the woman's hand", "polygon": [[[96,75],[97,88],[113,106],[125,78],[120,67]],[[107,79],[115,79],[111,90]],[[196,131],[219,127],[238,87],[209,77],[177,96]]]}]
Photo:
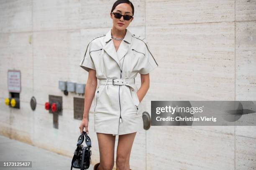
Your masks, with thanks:
[{"label": "small black handbag with studs held in the woman's hand", "polygon": [[[82,145],[84,142],[85,136],[85,143],[87,146]],[[72,168],[79,168],[80,170],[87,170],[91,164],[91,139],[86,134],[86,132],[82,132],[77,140],[77,149],[74,151],[74,156],[71,163],[71,170]]]}]

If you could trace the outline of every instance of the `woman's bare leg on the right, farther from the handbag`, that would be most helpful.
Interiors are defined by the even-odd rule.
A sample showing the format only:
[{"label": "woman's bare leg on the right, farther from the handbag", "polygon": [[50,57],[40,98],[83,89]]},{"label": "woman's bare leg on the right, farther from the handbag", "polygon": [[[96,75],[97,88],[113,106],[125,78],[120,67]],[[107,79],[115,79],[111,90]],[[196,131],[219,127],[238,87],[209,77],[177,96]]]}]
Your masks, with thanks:
[{"label": "woman's bare leg on the right, farther from the handbag", "polygon": [[135,133],[119,135],[116,152],[116,170],[130,170],[130,155]]}]

